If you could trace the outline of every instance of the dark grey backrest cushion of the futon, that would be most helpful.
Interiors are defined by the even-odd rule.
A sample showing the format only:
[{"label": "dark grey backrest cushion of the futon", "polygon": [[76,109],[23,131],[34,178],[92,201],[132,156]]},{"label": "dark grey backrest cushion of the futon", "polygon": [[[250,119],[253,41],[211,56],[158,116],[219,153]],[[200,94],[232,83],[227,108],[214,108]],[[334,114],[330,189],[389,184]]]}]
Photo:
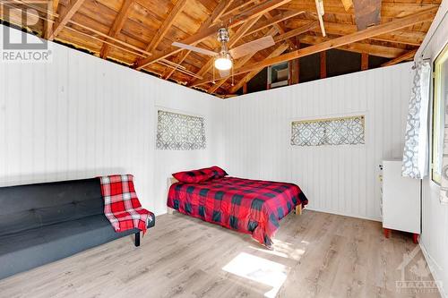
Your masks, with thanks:
[{"label": "dark grey backrest cushion of the futon", "polygon": [[0,236],[103,214],[99,179],[0,188]]}]

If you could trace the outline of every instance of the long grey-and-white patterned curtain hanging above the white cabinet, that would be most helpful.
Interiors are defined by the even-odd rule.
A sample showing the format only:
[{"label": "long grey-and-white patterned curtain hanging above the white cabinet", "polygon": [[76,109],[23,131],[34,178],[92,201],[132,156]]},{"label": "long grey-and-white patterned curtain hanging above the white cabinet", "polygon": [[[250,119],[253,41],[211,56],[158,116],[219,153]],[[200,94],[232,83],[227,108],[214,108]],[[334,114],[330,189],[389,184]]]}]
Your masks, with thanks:
[{"label": "long grey-and-white patterned curtain hanging above the white cabinet", "polygon": [[401,174],[405,177],[422,179],[427,175],[428,167],[427,124],[431,64],[418,62],[413,72]]}]

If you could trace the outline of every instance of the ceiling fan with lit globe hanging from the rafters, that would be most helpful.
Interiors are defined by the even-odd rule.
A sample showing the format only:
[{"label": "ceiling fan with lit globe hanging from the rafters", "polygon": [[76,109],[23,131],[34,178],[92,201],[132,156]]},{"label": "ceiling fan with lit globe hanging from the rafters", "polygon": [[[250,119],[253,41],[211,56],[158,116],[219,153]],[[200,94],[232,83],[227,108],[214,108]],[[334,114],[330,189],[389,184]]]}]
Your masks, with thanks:
[{"label": "ceiling fan with lit globe hanging from the rafters", "polygon": [[274,39],[271,36],[267,36],[264,38],[258,38],[253,41],[249,41],[241,46],[228,49],[227,43],[229,40],[229,35],[226,28],[220,28],[220,30],[218,30],[217,39],[221,44],[220,52],[214,52],[205,48],[194,47],[180,42],[173,42],[172,45],[204,55],[211,55],[215,58],[214,66],[220,72],[221,77],[228,76],[229,70],[233,67],[234,59],[243,57],[245,55],[254,54],[255,52],[262,50],[263,48],[275,45]]}]

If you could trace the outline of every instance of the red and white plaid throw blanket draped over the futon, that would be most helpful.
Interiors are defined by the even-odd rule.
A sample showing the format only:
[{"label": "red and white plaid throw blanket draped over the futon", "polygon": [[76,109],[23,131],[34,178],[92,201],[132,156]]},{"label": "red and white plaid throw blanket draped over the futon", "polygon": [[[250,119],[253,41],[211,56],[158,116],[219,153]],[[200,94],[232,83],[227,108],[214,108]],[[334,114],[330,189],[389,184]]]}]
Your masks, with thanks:
[{"label": "red and white plaid throw blanket draped over the futon", "polygon": [[143,209],[134,189],[133,175],[108,175],[99,177],[104,199],[104,215],[116,232],[137,228],[143,232],[154,215]]}]

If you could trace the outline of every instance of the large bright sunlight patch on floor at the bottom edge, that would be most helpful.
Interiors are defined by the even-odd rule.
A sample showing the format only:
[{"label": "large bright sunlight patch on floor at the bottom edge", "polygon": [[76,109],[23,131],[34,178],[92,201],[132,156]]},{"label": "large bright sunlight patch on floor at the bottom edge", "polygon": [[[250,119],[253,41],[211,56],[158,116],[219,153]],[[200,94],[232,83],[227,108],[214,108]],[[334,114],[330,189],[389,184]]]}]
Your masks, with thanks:
[{"label": "large bright sunlight patch on floor at the bottom edge", "polygon": [[271,260],[256,257],[252,254],[241,252],[233,260],[222,268],[224,271],[245,277],[255,282],[270,285],[271,291],[264,294],[265,297],[275,297],[288,277],[289,268]]}]

